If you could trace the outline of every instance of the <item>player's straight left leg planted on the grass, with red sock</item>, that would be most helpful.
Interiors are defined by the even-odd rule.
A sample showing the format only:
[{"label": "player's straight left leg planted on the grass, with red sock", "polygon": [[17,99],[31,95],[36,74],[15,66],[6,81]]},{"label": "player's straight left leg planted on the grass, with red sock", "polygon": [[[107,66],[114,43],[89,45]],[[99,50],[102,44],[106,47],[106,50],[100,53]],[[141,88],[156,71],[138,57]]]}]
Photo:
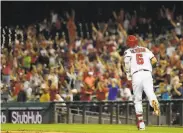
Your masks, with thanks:
[{"label": "player's straight left leg planted on the grass, with red sock", "polygon": [[135,113],[137,119],[137,128],[139,130],[145,130],[145,124],[143,121],[143,107],[142,107],[142,84],[141,78],[139,76],[133,76],[132,79],[132,86],[133,86],[133,93],[134,93],[134,105],[135,105]]}]

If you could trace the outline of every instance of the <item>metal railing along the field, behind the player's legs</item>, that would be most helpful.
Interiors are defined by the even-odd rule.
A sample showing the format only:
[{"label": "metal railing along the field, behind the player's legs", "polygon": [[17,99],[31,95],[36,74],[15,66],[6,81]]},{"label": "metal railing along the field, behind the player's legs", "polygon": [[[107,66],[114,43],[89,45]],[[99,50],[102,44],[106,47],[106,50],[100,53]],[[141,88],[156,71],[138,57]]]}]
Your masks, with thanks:
[{"label": "metal railing along the field, behind the player's legs", "polygon": [[[144,121],[146,125],[180,125],[183,126],[183,99],[160,100],[161,116],[152,114],[148,101],[143,101]],[[65,119],[64,123],[75,123],[74,116],[81,123],[105,124],[132,124],[135,123],[135,110],[132,101],[107,101],[107,102],[61,102],[54,103],[55,123],[58,118]],[[96,121],[96,118],[98,120]],[[90,122],[89,120],[90,119]],[[95,119],[95,120],[94,120]]]}]

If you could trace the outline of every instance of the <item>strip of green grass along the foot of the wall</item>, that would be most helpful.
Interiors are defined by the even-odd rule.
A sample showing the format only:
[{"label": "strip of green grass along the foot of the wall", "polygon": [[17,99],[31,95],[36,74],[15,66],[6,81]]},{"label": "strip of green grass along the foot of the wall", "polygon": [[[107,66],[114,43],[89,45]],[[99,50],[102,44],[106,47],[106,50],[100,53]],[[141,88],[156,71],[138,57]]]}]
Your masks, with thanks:
[{"label": "strip of green grass along the foot of the wall", "polygon": [[2,131],[58,131],[68,133],[183,133],[183,127],[146,127],[138,131],[134,125],[89,124],[2,124]]}]

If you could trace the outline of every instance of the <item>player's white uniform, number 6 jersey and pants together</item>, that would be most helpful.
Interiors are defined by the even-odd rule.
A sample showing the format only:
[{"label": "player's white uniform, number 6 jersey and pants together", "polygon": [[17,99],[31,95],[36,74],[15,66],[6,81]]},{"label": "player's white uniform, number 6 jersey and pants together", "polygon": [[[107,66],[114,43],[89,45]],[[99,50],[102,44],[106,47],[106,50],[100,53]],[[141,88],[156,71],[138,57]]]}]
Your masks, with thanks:
[{"label": "player's white uniform, number 6 jersey and pants together", "polygon": [[126,50],[124,54],[127,78],[128,80],[132,80],[135,112],[136,114],[142,114],[143,91],[145,92],[151,107],[153,107],[153,100],[158,103],[157,97],[153,90],[153,78],[151,74],[151,58],[153,58],[154,55],[149,49],[140,46]]}]

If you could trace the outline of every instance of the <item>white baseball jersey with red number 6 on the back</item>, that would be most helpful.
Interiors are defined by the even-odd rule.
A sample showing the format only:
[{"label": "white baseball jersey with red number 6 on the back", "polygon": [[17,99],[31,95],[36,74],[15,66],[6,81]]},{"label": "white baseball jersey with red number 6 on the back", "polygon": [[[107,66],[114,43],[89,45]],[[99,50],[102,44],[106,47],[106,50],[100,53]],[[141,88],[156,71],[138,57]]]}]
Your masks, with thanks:
[{"label": "white baseball jersey with red number 6 on the back", "polygon": [[126,73],[131,76],[142,69],[152,72],[151,58],[154,54],[149,49],[140,46],[129,48],[125,51],[124,57]]}]

